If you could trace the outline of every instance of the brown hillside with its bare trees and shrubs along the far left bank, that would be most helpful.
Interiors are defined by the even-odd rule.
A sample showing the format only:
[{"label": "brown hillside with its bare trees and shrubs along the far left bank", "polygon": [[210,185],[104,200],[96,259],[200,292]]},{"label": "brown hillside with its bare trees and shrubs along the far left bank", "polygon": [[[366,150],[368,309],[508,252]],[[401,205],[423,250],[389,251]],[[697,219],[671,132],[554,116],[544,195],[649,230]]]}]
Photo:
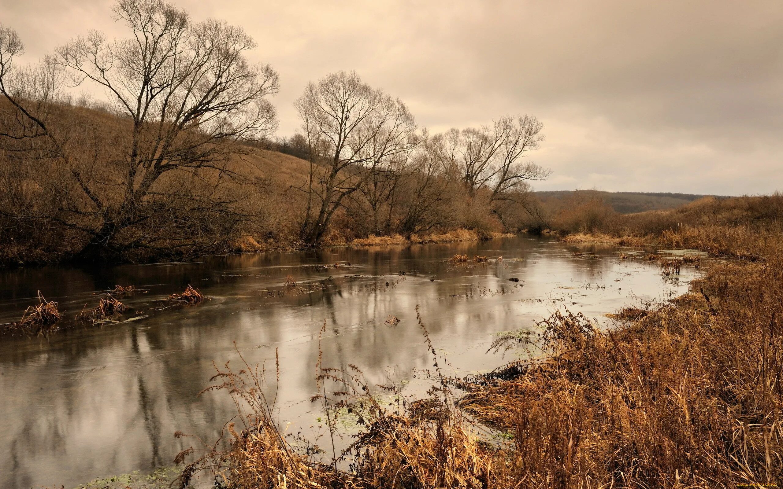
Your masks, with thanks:
[{"label": "brown hillside with its bare trees and shrubs along the far left bank", "polygon": [[127,37],[90,32],[38,63],[0,27],[6,264],[499,232],[525,227],[529,182],[549,174],[525,160],[543,141],[536,117],[430,135],[352,72],[295,102],[301,133],[281,142],[304,160],[271,154],[279,75],[248,60],[241,27],[157,0],[113,13]]}]

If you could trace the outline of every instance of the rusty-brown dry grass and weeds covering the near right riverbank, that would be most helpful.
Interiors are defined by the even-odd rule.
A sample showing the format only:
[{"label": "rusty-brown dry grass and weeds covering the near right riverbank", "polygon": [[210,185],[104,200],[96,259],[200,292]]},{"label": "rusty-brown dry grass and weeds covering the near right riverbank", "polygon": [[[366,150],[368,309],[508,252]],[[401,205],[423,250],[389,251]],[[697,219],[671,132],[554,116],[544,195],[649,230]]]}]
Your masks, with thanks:
[{"label": "rusty-brown dry grass and weeds covering the near right riverbank", "polygon": [[[688,222],[680,225],[691,229],[686,236],[702,236],[690,247],[752,260],[711,264],[691,294],[621,311],[612,329],[558,312],[539,323],[538,336],[497,340],[497,350],[529,347],[534,357],[491,374],[442,376],[420,320],[435,379],[426,399],[389,406],[370,391],[395,394],[393,387],[367,386],[353,365],[345,372],[318,365],[314,400],[330,429],[345,413],[359,420],[354,444],[336,461],[330,447],[322,447],[325,455],[279,430],[263,372],[221,369],[218,388],[236,398],[244,428],[229,426],[231,447],[187,466],[182,481],[214,471],[220,484],[248,489],[776,484],[783,475],[783,239],[780,207],[769,210],[779,202],[707,201],[673,211]],[[699,234],[697,227],[716,216],[720,248],[711,228]]]}]

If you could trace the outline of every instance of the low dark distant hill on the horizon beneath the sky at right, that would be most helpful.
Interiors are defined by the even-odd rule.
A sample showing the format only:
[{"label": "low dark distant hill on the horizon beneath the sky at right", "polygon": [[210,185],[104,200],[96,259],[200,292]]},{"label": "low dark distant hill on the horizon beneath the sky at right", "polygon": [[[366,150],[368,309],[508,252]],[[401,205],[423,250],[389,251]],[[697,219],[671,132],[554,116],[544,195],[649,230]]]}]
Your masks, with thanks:
[{"label": "low dark distant hill on the horizon beneath the sky at right", "polygon": [[[705,195],[693,193],[672,192],[604,192],[601,190],[580,190],[579,192],[590,192],[595,196],[601,196],[604,202],[621,214],[633,214],[634,212],[643,212],[644,210],[673,209],[674,207],[680,207],[684,203],[705,197]],[[573,190],[554,190],[536,192],[536,196],[540,200],[564,200],[572,196],[573,193]],[[726,196],[715,197],[725,198]]]}]

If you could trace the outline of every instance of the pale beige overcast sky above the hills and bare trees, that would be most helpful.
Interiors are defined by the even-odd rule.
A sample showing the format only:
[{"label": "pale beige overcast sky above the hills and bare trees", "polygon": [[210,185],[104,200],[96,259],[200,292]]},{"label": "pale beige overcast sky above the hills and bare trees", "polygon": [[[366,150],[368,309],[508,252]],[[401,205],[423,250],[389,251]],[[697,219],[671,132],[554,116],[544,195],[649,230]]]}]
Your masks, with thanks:
[{"label": "pale beige overcast sky above the hills and bare trees", "polygon": [[[103,0],[0,0],[27,61],[90,29]],[[529,113],[536,189],[739,195],[783,189],[783,2],[175,0],[258,41],[280,128],[308,81],[356,70],[431,132]]]}]

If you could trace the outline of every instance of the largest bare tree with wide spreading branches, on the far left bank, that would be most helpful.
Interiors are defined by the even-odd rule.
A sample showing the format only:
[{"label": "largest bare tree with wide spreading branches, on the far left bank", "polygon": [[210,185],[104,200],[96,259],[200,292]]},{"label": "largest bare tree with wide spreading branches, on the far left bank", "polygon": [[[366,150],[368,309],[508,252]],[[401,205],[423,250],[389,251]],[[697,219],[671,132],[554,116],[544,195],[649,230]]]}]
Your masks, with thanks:
[{"label": "largest bare tree with wide spreading branches, on the far left bank", "polygon": [[[38,158],[43,152],[67,168],[81,198],[57,219],[90,236],[89,254],[154,247],[145,233],[124,243],[117,234],[159,221],[164,203],[193,199],[192,188],[176,185],[175,176],[215,185],[237,176],[229,163],[247,150],[241,143],[276,125],[268,95],[276,93],[278,75],[247,62],[255,44],[240,27],[194,23],[161,0],[119,0],[113,12],[129,38],[109,41],[90,32],[24,76],[10,76],[23,48],[16,33],[0,27],[0,92],[16,110],[16,124],[4,124],[0,136],[17,153]],[[103,88],[128,125],[86,168],[81,148],[72,144],[74,131],[60,130],[62,121],[51,117],[62,74],[71,85]],[[187,239],[173,246],[187,246]]]}]

